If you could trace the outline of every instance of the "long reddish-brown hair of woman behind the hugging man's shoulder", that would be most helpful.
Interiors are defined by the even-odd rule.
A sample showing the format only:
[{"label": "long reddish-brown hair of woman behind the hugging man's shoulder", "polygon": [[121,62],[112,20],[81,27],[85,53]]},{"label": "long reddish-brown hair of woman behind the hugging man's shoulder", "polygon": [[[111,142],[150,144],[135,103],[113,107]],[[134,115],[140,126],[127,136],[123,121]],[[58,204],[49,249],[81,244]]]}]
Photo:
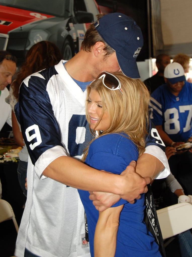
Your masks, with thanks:
[{"label": "long reddish-brown hair of woman behind the hugging man's shoulder", "polygon": [[27,52],[26,60],[11,84],[14,97],[19,98],[19,87],[25,78],[37,71],[56,65],[61,60],[62,54],[54,43],[40,41],[33,45]]}]

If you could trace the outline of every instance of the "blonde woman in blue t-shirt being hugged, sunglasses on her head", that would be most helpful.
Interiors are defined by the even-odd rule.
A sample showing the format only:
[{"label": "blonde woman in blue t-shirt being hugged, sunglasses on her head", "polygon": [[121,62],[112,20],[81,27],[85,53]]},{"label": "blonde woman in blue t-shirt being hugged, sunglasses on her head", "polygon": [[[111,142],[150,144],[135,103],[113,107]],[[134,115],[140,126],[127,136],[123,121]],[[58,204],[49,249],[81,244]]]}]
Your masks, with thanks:
[{"label": "blonde woman in blue t-shirt being hugged, sunglasses on her head", "polygon": [[[149,92],[139,79],[102,72],[87,87],[86,118],[98,134],[82,160],[90,167],[120,174],[145,151]],[[139,120],[138,120],[139,116]],[[130,204],[119,200],[99,212],[89,192],[78,190],[87,215],[92,257],[161,256],[144,222],[145,194]]]}]

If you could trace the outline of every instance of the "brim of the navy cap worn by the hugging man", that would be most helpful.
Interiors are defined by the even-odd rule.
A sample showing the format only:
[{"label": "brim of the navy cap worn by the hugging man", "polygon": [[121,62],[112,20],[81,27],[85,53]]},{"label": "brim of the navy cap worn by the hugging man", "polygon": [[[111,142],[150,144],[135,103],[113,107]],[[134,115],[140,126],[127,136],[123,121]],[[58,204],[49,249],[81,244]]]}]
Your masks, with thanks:
[{"label": "brim of the navy cap worn by the hugging man", "polygon": [[139,79],[139,71],[137,62],[126,59],[124,56],[116,52],[116,57],[119,63],[119,67],[123,74],[132,79]]}]

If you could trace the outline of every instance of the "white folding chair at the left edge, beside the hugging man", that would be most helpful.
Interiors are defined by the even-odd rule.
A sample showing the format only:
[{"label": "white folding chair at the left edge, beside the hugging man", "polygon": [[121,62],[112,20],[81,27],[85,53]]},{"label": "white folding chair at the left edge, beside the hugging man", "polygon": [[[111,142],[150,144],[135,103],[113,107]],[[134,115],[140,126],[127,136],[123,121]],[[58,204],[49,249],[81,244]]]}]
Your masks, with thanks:
[{"label": "white folding chair at the left edge, beside the hugging man", "polygon": [[0,199],[0,223],[9,219],[13,220],[16,232],[18,233],[19,227],[15,219],[15,214],[13,212],[12,206],[7,201]]}]

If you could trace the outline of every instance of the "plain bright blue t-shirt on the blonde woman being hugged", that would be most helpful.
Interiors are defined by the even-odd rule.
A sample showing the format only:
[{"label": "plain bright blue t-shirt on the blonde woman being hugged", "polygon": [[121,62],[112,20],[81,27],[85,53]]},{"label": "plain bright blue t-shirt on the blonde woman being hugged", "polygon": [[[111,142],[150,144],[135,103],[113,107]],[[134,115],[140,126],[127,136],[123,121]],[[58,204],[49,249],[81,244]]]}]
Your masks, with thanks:
[{"label": "plain bright blue t-shirt on the blonde woman being hugged", "polygon": [[[98,137],[91,143],[86,163],[96,169],[120,174],[132,160],[138,159],[135,144],[120,134],[108,134]],[[87,215],[91,256],[94,256],[94,233],[98,220],[98,211],[89,200],[89,192],[78,190]],[[143,221],[144,200],[142,194],[135,204],[121,199],[114,206],[124,204],[120,214],[115,257],[161,256],[154,237],[148,232]],[[114,207],[113,206],[113,207]]]}]

